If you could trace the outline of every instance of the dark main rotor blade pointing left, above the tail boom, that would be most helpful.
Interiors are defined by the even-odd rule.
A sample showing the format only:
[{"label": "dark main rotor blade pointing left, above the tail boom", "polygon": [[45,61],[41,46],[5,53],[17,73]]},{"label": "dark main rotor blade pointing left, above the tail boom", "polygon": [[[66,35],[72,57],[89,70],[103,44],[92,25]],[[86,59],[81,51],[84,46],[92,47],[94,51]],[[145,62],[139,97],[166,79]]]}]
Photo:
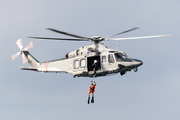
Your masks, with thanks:
[{"label": "dark main rotor blade pointing left, above the tail boom", "polygon": [[89,41],[87,39],[69,39],[69,38],[47,38],[47,37],[28,37],[35,39],[49,39],[49,40],[69,40],[69,41]]}]

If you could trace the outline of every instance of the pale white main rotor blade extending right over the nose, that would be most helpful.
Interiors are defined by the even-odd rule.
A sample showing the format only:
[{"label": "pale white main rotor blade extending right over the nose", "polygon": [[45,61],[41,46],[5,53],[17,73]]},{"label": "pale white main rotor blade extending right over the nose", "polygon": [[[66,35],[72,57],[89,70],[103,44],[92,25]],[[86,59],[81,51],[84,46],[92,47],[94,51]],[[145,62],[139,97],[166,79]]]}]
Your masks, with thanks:
[{"label": "pale white main rotor blade extending right over the nose", "polygon": [[143,36],[143,37],[129,37],[129,38],[108,38],[106,40],[129,40],[129,39],[143,39],[143,38],[154,38],[154,37],[164,37],[164,36],[170,36],[168,35],[155,35],[155,36]]}]

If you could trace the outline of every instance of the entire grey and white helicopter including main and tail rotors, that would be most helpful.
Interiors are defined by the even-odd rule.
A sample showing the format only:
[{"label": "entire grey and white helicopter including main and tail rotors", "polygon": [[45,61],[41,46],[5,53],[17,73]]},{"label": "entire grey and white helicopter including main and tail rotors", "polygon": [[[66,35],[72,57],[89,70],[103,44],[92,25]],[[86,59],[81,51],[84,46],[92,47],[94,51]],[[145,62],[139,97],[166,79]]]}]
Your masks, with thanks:
[{"label": "entire grey and white helicopter including main and tail rotors", "polygon": [[[35,39],[48,39],[48,40],[68,40],[68,41],[91,41],[92,44],[83,46],[75,51],[69,52],[65,55],[65,58],[50,60],[46,62],[39,62],[34,58],[28,50],[33,47],[33,43],[30,42],[26,48],[23,48],[22,40],[17,40],[16,44],[20,48],[20,52],[11,56],[14,60],[18,55],[22,55],[23,64],[28,62],[30,67],[24,68],[20,66],[21,70],[31,70],[37,72],[54,72],[54,73],[70,73],[73,77],[100,77],[111,74],[120,73],[120,75],[126,74],[128,71],[138,71],[143,62],[138,59],[130,58],[125,52],[118,51],[116,49],[107,48],[103,41],[107,40],[128,40],[128,39],[143,39],[163,37],[169,35],[155,35],[155,36],[143,36],[143,37],[128,37],[128,38],[112,38],[114,36],[124,34],[138,29],[134,27],[132,29],[111,35],[106,37],[84,37],[63,31],[59,31],[52,28],[47,30],[60,33],[63,35],[75,37],[75,38],[49,38],[49,37],[28,37]],[[96,67],[93,65],[96,64]]]}]

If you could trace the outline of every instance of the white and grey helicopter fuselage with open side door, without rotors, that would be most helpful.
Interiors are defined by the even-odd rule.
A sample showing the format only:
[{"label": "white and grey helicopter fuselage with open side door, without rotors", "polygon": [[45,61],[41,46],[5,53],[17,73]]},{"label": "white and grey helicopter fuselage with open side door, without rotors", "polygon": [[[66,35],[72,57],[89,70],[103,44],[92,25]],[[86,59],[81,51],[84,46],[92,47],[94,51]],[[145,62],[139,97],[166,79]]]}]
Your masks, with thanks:
[{"label": "white and grey helicopter fuselage with open side door, without rotors", "polygon": [[[38,62],[28,51],[23,51],[28,59],[30,68],[22,70],[34,70],[39,72],[65,72],[74,77],[93,77],[93,63],[97,60],[96,76],[105,76],[113,73],[124,75],[132,69],[142,65],[142,61],[129,58],[124,52],[108,49],[102,43],[95,43],[81,47],[67,53],[66,58]],[[119,57],[118,57],[119,56]]]}]

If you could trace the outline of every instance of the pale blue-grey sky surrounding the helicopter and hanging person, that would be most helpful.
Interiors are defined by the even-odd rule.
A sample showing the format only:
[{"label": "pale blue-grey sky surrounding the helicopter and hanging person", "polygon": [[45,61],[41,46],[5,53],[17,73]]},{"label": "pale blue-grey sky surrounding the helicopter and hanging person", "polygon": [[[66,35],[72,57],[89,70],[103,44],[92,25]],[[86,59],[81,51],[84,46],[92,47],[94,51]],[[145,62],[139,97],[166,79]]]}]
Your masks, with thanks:
[{"label": "pale blue-grey sky surrounding the helicopter and hanging person", "polygon": [[[172,120],[179,119],[179,1],[175,0],[14,0],[0,4],[1,120]],[[138,72],[100,78],[22,71],[22,58],[12,61],[33,41],[29,52],[39,61],[64,57],[90,42],[38,41],[27,36],[66,37],[44,28],[77,35],[117,37],[171,34],[169,37],[104,42],[140,59]],[[67,36],[68,38],[68,36]],[[97,82],[95,103],[87,104],[90,81]]]}]

